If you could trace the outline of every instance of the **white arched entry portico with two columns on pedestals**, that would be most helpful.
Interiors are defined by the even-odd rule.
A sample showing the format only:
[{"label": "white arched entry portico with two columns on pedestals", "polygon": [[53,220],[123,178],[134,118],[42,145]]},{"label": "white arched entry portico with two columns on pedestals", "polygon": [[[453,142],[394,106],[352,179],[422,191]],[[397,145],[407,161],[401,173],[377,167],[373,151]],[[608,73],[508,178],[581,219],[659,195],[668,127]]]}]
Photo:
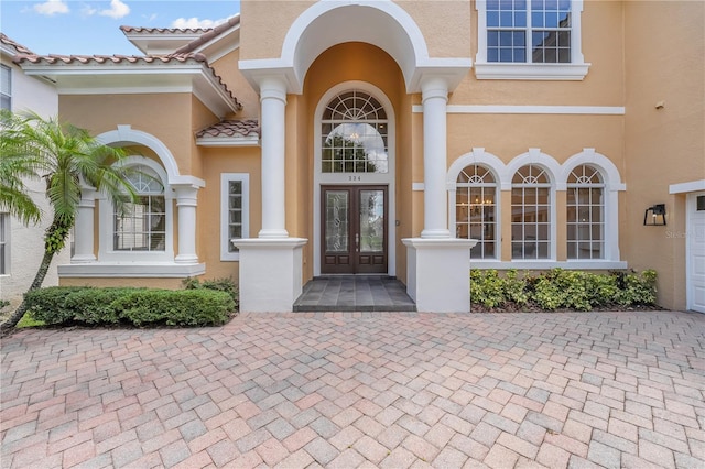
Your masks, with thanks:
[{"label": "white arched entry portico with two columns on pedestals", "polygon": [[[405,92],[421,92],[424,111],[423,229],[419,238],[411,233],[411,238],[403,239],[408,249],[406,272],[397,272],[392,263],[388,273],[406,276],[409,294],[416,301],[419,310],[468,310],[467,272],[474,241],[451,236],[445,179],[446,105],[448,94],[470,69],[470,52],[468,48],[465,55],[455,57],[431,56],[426,41],[411,15],[391,1],[316,2],[293,21],[279,57],[239,62],[241,73],[260,95],[262,128],[262,230],[256,239],[235,241],[240,249],[241,307],[248,312],[291,310],[301,294],[304,280],[301,270],[306,259],[302,250],[310,241],[292,238],[286,230],[286,163],[291,164],[286,154],[290,138],[286,132],[288,96],[305,92],[307,73],[322,54],[336,45],[352,42],[369,44],[388,54],[401,72]],[[381,94],[384,92],[382,89]],[[397,132],[395,138],[411,139],[412,135]],[[400,146],[395,145],[397,149]],[[397,156],[399,164],[402,155]],[[406,161],[406,164],[411,163]],[[395,214],[394,184],[399,179],[393,173],[393,164],[390,172],[391,206],[388,214]],[[314,187],[307,193],[310,196],[305,203],[319,214],[321,186],[315,176],[313,179]],[[393,257],[400,240],[395,239],[395,217],[388,218],[389,246]],[[318,230],[322,228],[317,220],[312,222],[314,244],[318,244],[323,236]],[[307,254],[314,259],[314,274],[321,273],[322,257],[317,248],[311,247],[314,254]],[[434,282],[429,282],[429,274],[434,276]],[[262,279],[267,279],[267,288],[262,288]],[[279,293],[272,295],[272,292]]]}]

